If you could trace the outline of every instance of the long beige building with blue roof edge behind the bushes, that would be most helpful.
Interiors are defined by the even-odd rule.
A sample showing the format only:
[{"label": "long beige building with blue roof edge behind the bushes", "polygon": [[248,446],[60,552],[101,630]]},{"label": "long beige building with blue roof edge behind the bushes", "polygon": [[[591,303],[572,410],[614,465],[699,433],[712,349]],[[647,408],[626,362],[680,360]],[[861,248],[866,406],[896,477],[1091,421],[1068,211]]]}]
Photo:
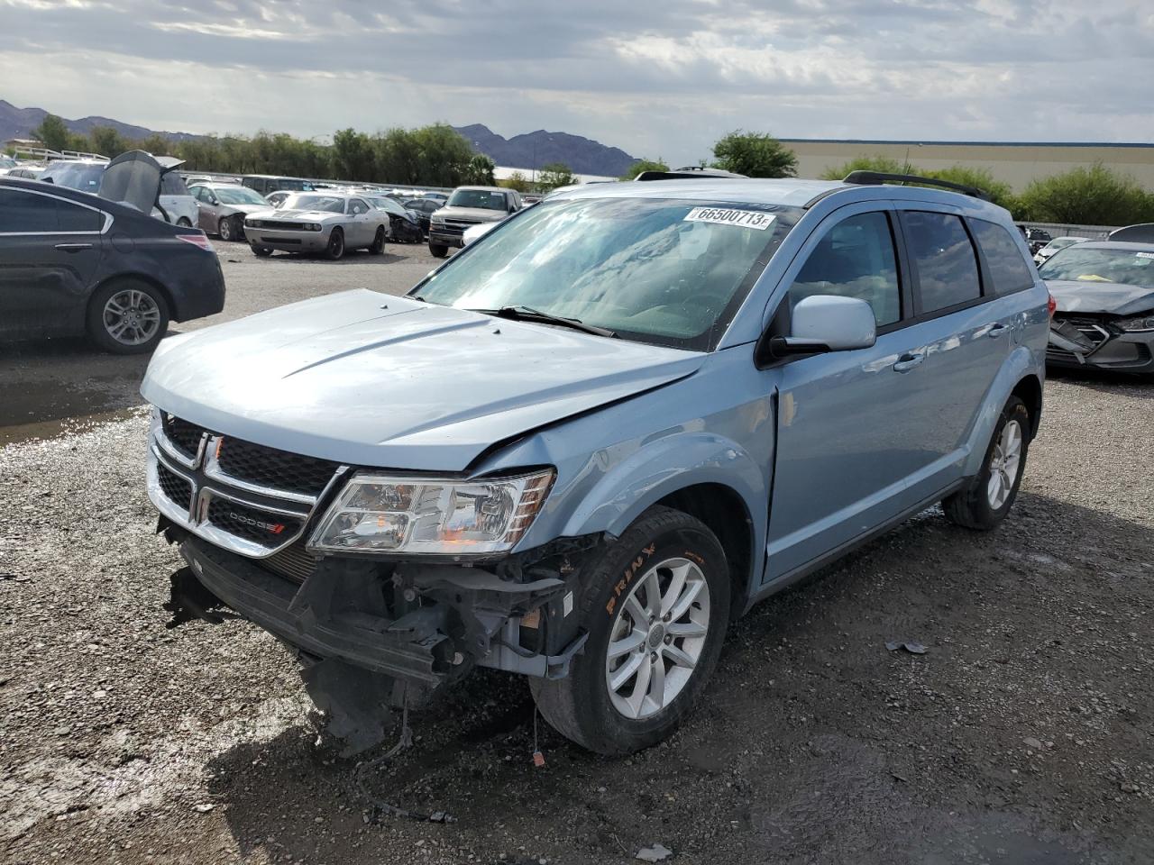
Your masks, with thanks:
[{"label": "long beige building with blue roof edge behind the bushes", "polygon": [[917,168],[952,165],[989,168],[1016,191],[1036,178],[1102,163],[1154,190],[1154,144],[1054,144],[943,141],[833,141],[781,138],[797,156],[797,176],[817,178],[857,157],[883,156]]}]

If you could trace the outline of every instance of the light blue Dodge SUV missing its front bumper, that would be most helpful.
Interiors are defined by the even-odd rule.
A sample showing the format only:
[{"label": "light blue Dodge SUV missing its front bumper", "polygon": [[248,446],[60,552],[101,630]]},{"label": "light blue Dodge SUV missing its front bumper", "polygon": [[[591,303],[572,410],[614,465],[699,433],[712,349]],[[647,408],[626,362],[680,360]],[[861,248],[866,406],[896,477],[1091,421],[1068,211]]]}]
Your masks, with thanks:
[{"label": "light blue Dodge SUV missing its front bumper", "polygon": [[175,620],[288,644],[354,749],[478,665],[590,750],[660,740],[754,603],[1013,504],[1048,292],[1005,210],[884,179],[582,187],[405,298],[164,340]]}]

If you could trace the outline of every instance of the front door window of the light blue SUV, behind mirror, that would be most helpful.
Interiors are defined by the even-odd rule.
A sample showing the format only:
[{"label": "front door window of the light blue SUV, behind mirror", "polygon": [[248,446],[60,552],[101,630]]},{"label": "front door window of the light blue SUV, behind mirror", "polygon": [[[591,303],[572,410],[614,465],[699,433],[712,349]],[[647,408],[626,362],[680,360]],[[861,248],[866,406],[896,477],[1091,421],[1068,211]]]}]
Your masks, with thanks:
[{"label": "front door window of the light blue SUV, behind mirror", "polygon": [[814,294],[863,300],[872,307],[878,326],[901,318],[893,232],[885,213],[859,213],[825,233],[794,279],[789,303]]}]

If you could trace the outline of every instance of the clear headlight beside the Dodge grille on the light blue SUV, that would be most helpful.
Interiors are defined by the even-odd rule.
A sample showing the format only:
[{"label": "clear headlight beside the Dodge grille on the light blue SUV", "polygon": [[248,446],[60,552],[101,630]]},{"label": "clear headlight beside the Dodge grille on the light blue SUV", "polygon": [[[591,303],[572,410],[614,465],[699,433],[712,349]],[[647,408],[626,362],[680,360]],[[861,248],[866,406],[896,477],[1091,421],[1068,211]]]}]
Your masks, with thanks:
[{"label": "clear headlight beside the Dodge grille on the light blue SUV", "polygon": [[325,512],[308,547],[441,556],[507,552],[533,524],[554,477],[552,468],[480,481],[359,472]]}]

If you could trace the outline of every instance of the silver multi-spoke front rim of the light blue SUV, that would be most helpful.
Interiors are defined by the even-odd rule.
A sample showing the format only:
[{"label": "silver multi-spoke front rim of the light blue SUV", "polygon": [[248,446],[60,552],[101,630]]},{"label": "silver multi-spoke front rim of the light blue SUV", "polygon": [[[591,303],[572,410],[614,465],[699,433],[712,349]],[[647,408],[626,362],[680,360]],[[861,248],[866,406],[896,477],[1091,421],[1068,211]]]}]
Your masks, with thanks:
[{"label": "silver multi-spoke front rim of the light blue SUV", "polygon": [[613,707],[645,719],[694,675],[710,627],[710,587],[695,562],[669,558],[636,581],[609,631],[605,682]]}]

